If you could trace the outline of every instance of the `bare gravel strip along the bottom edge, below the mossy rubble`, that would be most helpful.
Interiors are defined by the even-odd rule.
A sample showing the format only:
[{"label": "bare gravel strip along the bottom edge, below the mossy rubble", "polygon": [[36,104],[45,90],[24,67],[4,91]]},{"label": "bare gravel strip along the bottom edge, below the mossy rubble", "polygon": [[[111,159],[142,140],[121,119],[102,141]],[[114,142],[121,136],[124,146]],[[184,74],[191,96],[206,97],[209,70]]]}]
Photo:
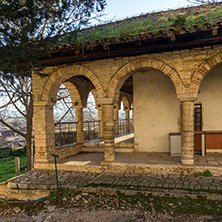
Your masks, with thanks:
[{"label": "bare gravel strip along the bottom edge, below the mossy rubble", "polygon": [[[54,208],[54,206],[52,207]],[[37,215],[26,215],[18,213],[1,217],[0,221],[4,222],[167,222],[167,221],[222,221],[222,217],[207,216],[207,215],[186,215],[186,214],[163,214],[158,212],[148,212],[141,210],[110,210],[110,211],[85,211],[77,208],[55,208],[46,209],[39,212]]]}]

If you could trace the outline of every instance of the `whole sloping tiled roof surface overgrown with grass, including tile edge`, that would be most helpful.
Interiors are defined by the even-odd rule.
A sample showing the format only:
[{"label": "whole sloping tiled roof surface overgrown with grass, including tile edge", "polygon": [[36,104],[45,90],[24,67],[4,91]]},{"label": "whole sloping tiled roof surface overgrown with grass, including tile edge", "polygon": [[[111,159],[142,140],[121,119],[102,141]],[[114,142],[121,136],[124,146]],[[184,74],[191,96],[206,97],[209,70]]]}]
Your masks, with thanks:
[{"label": "whole sloping tiled roof surface overgrown with grass, including tile edge", "polygon": [[[222,26],[222,3],[193,6],[156,13],[147,13],[81,30],[75,40],[63,36],[52,51],[94,48],[103,45],[149,40],[159,37],[175,40],[175,36],[218,29]],[[73,38],[72,38],[73,35]],[[71,38],[70,38],[71,37]],[[71,39],[71,40],[70,40]]]}]

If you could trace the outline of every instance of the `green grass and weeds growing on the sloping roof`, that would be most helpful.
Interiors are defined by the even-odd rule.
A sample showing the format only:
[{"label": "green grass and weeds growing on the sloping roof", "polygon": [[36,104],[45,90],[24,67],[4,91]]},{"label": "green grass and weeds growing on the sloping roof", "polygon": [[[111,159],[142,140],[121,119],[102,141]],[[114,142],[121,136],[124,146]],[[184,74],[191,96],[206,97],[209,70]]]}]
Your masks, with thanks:
[{"label": "green grass and weeds growing on the sloping roof", "polygon": [[[211,25],[216,20],[222,20],[222,5],[206,7],[186,8],[183,10],[166,11],[154,14],[147,14],[138,19],[129,19],[119,23],[110,23],[101,27],[95,27],[78,33],[77,38],[73,38],[76,44],[89,42],[90,46],[95,46],[98,41],[127,41],[139,39],[139,34],[147,35],[152,32],[154,35],[159,30],[168,33],[173,28],[176,33],[180,32],[182,26],[186,26],[188,32],[193,31],[193,26],[203,29],[206,22]],[[71,43],[66,37],[62,38],[64,43]]]}]

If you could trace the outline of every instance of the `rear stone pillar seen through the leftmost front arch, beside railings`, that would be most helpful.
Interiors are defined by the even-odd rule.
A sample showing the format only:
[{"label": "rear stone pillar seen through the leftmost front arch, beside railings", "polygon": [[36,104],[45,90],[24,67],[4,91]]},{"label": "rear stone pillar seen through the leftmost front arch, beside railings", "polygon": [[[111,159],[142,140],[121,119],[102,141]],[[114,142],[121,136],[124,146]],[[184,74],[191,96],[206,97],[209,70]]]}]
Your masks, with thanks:
[{"label": "rear stone pillar seen through the leftmost front arch, beside railings", "polygon": [[84,143],[84,131],[83,131],[83,107],[75,107],[76,109],[76,142]]}]

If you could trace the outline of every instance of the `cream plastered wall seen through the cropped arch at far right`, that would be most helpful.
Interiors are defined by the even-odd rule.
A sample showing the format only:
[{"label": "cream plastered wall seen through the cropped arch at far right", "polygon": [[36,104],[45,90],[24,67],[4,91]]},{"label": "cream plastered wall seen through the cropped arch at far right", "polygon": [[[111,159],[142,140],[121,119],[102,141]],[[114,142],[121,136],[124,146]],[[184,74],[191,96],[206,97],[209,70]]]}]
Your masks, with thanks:
[{"label": "cream plastered wall seen through the cropped arch at far right", "polygon": [[222,130],[222,64],[211,70],[200,85],[202,130]]}]

